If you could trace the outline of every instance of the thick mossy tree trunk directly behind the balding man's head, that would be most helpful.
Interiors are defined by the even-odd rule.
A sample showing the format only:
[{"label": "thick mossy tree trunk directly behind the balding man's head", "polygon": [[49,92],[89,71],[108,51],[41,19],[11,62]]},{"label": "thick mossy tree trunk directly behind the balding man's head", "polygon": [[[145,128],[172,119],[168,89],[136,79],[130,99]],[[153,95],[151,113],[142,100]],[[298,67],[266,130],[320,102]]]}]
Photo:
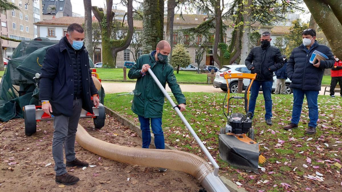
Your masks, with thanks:
[{"label": "thick mossy tree trunk directly behind the balding man's head", "polygon": [[143,8],[143,53],[149,53],[163,40],[164,0],[144,0]]}]

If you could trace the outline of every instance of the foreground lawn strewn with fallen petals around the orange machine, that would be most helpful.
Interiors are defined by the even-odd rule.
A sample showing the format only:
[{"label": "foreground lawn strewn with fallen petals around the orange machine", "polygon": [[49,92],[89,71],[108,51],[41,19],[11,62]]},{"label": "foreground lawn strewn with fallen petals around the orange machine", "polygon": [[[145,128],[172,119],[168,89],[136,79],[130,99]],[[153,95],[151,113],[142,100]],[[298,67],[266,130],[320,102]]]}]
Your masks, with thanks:
[{"label": "foreground lawn strewn with fallen petals around the orange machine", "polygon": [[[308,123],[306,100],[304,100],[299,127],[292,131],[285,131],[282,126],[289,123],[291,119],[293,96],[272,95],[274,125],[267,126],[264,120],[263,97],[260,95],[257,100],[253,126],[255,139],[261,144],[261,151],[267,161],[261,165],[266,168],[265,173],[255,174],[238,170],[219,157],[218,134],[220,127],[226,123],[226,118],[222,113],[225,94],[185,92],[184,95],[187,98],[187,110],[183,114],[200,139],[206,142],[206,147],[212,148],[209,151],[221,167],[220,175],[233,181],[239,181],[242,187],[248,191],[308,190],[305,188],[315,189],[315,191],[338,191],[341,189],[340,173],[342,169],[333,165],[342,160],[341,97],[331,99],[328,96],[319,96],[318,132],[316,135],[310,136],[304,135]],[[174,99],[173,96],[172,98]],[[132,99],[133,95],[108,94],[105,98],[105,105],[139,125],[137,115],[130,110]],[[166,143],[179,150],[205,158],[167,100],[162,122]],[[279,142],[279,140],[285,142],[281,143],[282,141]],[[305,168],[303,164],[308,167]],[[317,172],[323,174],[323,182],[304,177],[316,176]],[[291,187],[285,189],[284,183]]]}]

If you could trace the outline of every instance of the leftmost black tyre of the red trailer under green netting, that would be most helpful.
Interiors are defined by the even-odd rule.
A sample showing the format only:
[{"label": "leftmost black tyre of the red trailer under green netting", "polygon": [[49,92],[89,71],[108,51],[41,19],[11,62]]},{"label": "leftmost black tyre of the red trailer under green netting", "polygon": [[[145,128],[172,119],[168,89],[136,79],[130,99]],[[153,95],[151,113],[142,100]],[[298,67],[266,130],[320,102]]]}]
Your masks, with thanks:
[{"label": "leftmost black tyre of the red trailer under green netting", "polygon": [[24,107],[25,135],[31,136],[37,131],[36,106],[26,105]]}]

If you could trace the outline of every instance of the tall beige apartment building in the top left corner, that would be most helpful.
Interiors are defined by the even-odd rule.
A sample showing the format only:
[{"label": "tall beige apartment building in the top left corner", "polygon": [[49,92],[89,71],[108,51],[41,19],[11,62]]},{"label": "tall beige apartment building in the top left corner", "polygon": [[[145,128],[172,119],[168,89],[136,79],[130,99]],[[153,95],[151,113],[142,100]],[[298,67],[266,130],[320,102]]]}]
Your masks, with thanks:
[{"label": "tall beige apartment building in the top left corner", "polygon": [[[18,40],[31,40],[37,37],[37,29],[33,25],[41,18],[40,1],[9,0],[14,3],[19,10],[1,11],[1,36]],[[2,41],[2,51],[4,57],[10,57],[18,42]]]}]

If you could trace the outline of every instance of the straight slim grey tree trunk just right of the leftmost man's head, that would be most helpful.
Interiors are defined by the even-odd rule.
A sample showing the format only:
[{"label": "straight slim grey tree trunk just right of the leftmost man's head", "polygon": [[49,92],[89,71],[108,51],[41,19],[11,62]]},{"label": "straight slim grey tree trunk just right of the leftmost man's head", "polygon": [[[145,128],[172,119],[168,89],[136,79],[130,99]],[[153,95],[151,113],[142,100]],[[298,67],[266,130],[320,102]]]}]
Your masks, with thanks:
[{"label": "straight slim grey tree trunk just right of the leftmost man's head", "polygon": [[84,28],[86,32],[86,37],[85,37],[86,49],[89,53],[90,58],[94,59],[91,0],[83,0],[83,4],[84,4]]}]

